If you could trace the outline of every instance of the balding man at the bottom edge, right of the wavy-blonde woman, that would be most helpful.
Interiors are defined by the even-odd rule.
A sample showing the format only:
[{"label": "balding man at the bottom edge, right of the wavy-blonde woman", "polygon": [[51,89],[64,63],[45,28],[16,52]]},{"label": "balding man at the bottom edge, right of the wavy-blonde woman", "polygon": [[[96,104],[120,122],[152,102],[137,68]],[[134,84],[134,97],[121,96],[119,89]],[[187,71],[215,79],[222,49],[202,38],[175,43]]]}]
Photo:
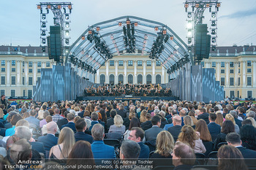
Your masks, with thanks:
[{"label": "balding man at the bottom edge, right of the wavy-blonde woman", "polygon": [[173,170],[189,170],[195,163],[194,150],[188,144],[176,142],[171,155],[173,156],[173,165],[176,166]]}]

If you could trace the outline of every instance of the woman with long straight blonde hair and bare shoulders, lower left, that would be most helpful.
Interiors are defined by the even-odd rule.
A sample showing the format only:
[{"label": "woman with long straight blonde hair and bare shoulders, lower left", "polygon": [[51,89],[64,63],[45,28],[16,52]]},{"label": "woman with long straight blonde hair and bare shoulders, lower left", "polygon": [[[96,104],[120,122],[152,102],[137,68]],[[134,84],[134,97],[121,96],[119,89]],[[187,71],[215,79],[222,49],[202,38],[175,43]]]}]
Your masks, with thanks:
[{"label": "woman with long straight blonde hair and bare shoulders, lower left", "polygon": [[74,131],[71,128],[64,127],[59,134],[58,144],[50,149],[49,157],[53,161],[61,161],[68,158],[69,152],[75,144]]}]

